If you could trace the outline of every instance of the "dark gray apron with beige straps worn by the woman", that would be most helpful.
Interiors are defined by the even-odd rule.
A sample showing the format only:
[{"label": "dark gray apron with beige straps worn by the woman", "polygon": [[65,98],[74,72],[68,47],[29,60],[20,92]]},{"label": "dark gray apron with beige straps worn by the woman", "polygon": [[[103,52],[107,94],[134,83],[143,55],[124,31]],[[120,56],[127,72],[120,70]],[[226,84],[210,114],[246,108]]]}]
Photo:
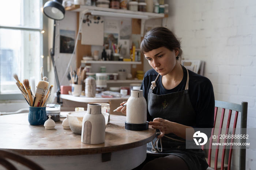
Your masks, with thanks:
[{"label": "dark gray apron with beige straps worn by the woman", "polygon": [[[192,107],[188,93],[188,70],[185,90],[180,92],[163,95],[154,94],[153,90],[156,87],[155,82],[158,77],[159,74],[155,81],[151,82],[152,85],[148,91],[148,112],[150,115],[153,118],[160,117],[162,119],[194,127],[196,112]],[[160,133],[159,130],[157,130],[157,132]],[[157,143],[158,140],[159,139],[156,137],[151,143],[147,144],[148,154],[153,153],[156,158],[165,157],[170,154],[176,155],[187,163],[190,170],[207,169],[208,164],[204,158],[205,154],[202,149],[186,149],[185,139],[172,133],[165,134],[165,136],[160,139],[160,142]],[[154,144],[156,144],[156,148],[154,147],[153,150]],[[161,150],[158,148],[161,148]]]}]

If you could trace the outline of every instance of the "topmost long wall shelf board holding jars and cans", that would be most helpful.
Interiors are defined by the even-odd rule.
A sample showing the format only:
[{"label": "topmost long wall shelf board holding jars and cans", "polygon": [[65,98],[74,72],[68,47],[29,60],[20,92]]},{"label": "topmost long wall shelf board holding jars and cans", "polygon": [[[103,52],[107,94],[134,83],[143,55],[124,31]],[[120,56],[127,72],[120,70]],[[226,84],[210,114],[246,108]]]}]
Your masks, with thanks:
[{"label": "topmost long wall shelf board holding jars and cans", "polygon": [[74,11],[74,12],[83,12],[84,10],[94,10],[94,11],[103,11],[103,12],[115,12],[117,13],[116,16],[118,16],[118,13],[127,14],[128,18],[129,15],[141,15],[142,18],[147,16],[147,19],[156,19],[156,18],[165,18],[167,17],[166,14],[163,13],[152,13],[152,12],[140,12],[140,11],[130,11],[130,10],[123,10],[123,9],[112,9],[112,8],[101,8],[101,7],[94,7],[94,6],[88,6],[88,5],[72,5],[70,7],[65,8],[66,11]]}]

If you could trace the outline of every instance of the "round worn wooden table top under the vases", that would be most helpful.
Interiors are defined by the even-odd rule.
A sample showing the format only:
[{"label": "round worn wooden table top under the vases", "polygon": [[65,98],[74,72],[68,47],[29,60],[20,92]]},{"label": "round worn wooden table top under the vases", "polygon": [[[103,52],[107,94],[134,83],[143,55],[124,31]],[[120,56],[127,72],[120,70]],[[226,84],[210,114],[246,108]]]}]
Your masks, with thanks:
[{"label": "round worn wooden table top under the vases", "polygon": [[23,155],[83,155],[98,154],[142,146],[155,137],[155,129],[126,130],[125,116],[110,115],[106,127],[105,143],[84,144],[81,135],[63,129],[61,118],[53,130],[44,125],[30,125],[28,113],[0,116],[0,148]]}]

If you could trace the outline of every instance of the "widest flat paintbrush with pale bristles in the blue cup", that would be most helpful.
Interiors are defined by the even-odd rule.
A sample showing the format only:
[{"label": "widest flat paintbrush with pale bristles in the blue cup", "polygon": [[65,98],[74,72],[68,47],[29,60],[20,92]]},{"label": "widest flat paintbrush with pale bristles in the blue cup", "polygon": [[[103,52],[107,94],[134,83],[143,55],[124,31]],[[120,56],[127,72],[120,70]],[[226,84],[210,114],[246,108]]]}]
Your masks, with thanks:
[{"label": "widest flat paintbrush with pale bristles in the blue cup", "polygon": [[49,82],[45,81],[47,77],[43,77],[43,80],[38,82],[37,90],[35,92],[34,107],[39,107],[40,102],[44,98],[46,89],[48,88]]}]

